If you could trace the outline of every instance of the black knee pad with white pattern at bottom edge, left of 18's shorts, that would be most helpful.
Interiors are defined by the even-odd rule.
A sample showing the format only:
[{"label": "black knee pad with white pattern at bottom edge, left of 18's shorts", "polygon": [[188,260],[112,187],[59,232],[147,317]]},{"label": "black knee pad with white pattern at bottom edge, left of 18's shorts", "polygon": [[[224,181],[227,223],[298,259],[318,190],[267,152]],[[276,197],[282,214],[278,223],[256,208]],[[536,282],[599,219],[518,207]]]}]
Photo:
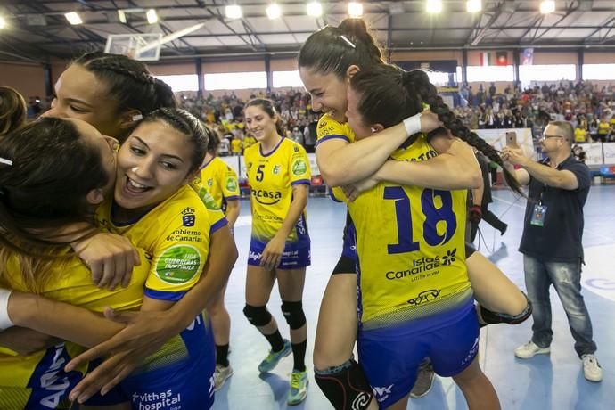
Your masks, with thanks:
[{"label": "black knee pad with white pattern at bottom edge, left of 18's shorts", "polygon": [[316,384],[336,410],[365,410],[372,402],[372,388],[354,359],[314,373]]}]

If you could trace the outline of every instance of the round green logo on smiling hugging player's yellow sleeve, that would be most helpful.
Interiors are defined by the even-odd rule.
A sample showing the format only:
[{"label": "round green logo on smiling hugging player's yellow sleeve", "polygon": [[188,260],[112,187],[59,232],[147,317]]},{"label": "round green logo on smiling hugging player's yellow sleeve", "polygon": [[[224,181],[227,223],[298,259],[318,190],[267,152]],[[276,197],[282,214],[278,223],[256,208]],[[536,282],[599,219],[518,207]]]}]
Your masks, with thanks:
[{"label": "round green logo on smiling hugging player's yellow sleeve", "polygon": [[184,284],[201,269],[201,253],[187,245],[176,245],[165,250],[156,263],[156,276],[164,283]]}]

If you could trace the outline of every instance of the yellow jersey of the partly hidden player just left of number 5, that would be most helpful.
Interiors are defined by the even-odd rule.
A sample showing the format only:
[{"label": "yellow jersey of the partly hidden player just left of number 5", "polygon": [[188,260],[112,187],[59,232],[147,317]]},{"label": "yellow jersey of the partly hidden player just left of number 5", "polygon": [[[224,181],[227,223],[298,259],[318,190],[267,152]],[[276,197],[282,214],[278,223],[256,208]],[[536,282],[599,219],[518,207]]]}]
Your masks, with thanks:
[{"label": "yellow jersey of the partly hidden player just left of number 5", "polygon": [[226,201],[239,199],[239,182],[235,171],[217,157],[201,168],[201,175],[192,182],[193,188],[201,194],[206,189],[214,199],[216,207],[226,209]]}]

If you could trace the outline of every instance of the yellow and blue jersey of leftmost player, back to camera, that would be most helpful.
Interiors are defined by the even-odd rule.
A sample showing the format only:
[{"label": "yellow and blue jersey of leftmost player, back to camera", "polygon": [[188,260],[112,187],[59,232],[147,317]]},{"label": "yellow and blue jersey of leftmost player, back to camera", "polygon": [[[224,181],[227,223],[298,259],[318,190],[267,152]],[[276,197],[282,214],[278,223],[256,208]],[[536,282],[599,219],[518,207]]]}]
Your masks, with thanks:
[{"label": "yellow and blue jersey of leftmost player, back to camera", "polygon": [[[92,281],[90,269],[79,258],[59,259],[53,263],[42,286],[41,296],[94,312],[105,307],[119,311],[138,310],[143,302],[143,285],[149,275],[150,262],[139,251],[141,265],[135,266],[127,288],[115,291],[100,289]],[[15,291],[29,292],[21,276],[21,264],[16,256],[4,266],[2,286]],[[72,389],[87,364],[78,371],[61,373],[71,358],[85,351],[70,342],[29,356],[20,356],[7,348],[0,348],[0,408],[56,408]],[[67,407],[68,408],[68,407]]]}]

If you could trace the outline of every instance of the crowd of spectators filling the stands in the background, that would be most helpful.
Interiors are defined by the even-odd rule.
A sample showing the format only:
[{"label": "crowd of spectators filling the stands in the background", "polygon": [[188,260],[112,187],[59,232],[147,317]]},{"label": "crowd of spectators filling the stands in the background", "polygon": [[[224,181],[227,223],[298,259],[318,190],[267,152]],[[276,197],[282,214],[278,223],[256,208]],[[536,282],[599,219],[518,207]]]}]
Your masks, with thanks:
[{"label": "crowd of spectators filling the stands in the background", "polygon": [[[29,118],[45,111],[53,97],[29,97]],[[234,92],[215,97],[178,93],[184,109],[191,111],[223,136],[220,155],[241,155],[256,140],[247,135],[243,106],[251,98],[269,98],[285,124],[285,136],[314,151],[319,113],[311,111],[309,94],[304,90],[255,91],[242,100]],[[462,85],[453,99],[454,109],[464,125],[480,128],[531,128],[537,139],[549,121],[566,120],[575,129],[577,143],[615,141],[615,86],[591,82],[556,82],[529,86],[521,90],[512,84],[504,90],[496,85]]]}]

